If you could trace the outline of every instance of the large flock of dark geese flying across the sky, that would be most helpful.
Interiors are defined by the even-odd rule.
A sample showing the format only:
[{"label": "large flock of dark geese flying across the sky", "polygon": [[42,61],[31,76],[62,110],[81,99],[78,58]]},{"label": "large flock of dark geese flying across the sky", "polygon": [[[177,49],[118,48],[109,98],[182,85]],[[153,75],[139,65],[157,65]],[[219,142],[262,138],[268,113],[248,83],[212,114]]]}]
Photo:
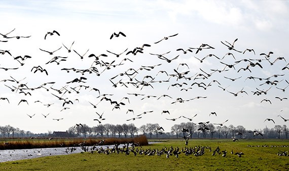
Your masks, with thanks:
[{"label": "large flock of dark geese flying across the sky", "polygon": [[[6,45],[10,44],[10,41],[12,41],[14,38],[20,39],[31,37],[30,35],[29,36],[13,35],[14,31],[15,29],[13,29],[12,31],[8,31],[7,33],[0,33],[1,35],[0,43],[2,47],[5,47]],[[52,30],[48,31],[47,33],[44,33],[43,35],[45,41],[55,41],[57,40],[57,37],[61,37],[61,32]],[[287,97],[278,97],[278,96],[276,96],[274,99],[264,98],[265,95],[272,94],[271,91],[273,91],[274,89],[275,91],[285,92],[286,88],[289,86],[289,82],[288,80],[286,80],[289,64],[286,62],[285,57],[274,57],[275,54],[273,52],[265,52],[260,53],[260,55],[258,55],[257,52],[255,52],[255,50],[251,48],[240,50],[238,47],[238,38],[234,39],[234,41],[232,42],[221,41],[221,44],[224,46],[224,48],[228,49],[228,53],[223,55],[212,54],[212,52],[215,51],[215,48],[214,46],[208,44],[201,44],[198,47],[192,48],[176,48],[175,50],[162,53],[147,52],[150,50],[150,47],[160,46],[163,43],[163,41],[173,42],[174,38],[176,38],[177,36],[178,33],[165,36],[153,42],[153,44],[142,44],[140,47],[136,46],[131,50],[129,50],[129,48],[125,48],[125,50],[122,51],[121,53],[106,50],[107,53],[103,53],[100,55],[96,55],[93,53],[88,54],[88,52],[90,52],[89,49],[82,51],[82,53],[80,53],[81,50],[74,49],[75,41],[69,44],[69,46],[67,45],[65,46],[64,43],[61,42],[62,46],[60,46],[55,50],[45,50],[39,48],[40,55],[43,56],[49,55],[52,58],[49,61],[47,60],[48,62],[38,64],[38,66],[33,66],[31,69],[29,68],[30,72],[33,72],[34,74],[39,73],[42,74],[43,77],[46,77],[51,72],[51,70],[46,69],[48,65],[64,66],[62,69],[60,69],[60,72],[73,73],[75,75],[75,78],[72,80],[66,80],[65,77],[61,78],[59,77],[60,79],[66,80],[64,85],[59,85],[58,82],[52,80],[49,82],[44,82],[37,87],[29,86],[29,82],[25,82],[26,77],[19,79],[16,78],[14,75],[12,75],[15,74],[15,70],[20,70],[22,67],[28,65],[26,63],[30,63],[33,58],[36,58],[35,57],[36,55],[30,54],[19,55],[20,52],[10,49],[1,49],[0,55],[3,56],[2,58],[12,60],[11,63],[13,63],[13,65],[16,66],[12,68],[5,66],[1,67],[1,69],[4,70],[1,72],[5,73],[2,74],[3,78],[1,78],[0,80],[0,82],[3,83],[2,92],[13,92],[19,94],[20,100],[18,102],[18,106],[30,105],[31,103],[40,103],[47,107],[51,107],[54,106],[55,103],[58,103],[60,106],[62,106],[62,109],[59,112],[69,110],[70,108],[72,109],[73,105],[77,105],[77,103],[80,103],[79,98],[71,99],[68,96],[69,94],[74,94],[75,96],[78,96],[81,92],[85,91],[86,93],[91,93],[94,96],[95,93],[97,93],[97,96],[95,96],[96,102],[87,101],[83,103],[86,103],[86,105],[91,106],[95,109],[99,108],[100,104],[101,105],[103,105],[104,103],[109,104],[112,105],[111,108],[112,111],[120,110],[121,112],[126,113],[125,117],[128,117],[129,114],[134,115],[134,112],[136,110],[139,110],[139,106],[130,105],[130,103],[133,103],[137,98],[138,102],[145,101],[143,103],[148,103],[148,101],[150,101],[152,104],[156,105],[161,105],[162,103],[167,101],[171,101],[169,103],[173,105],[173,104],[183,104],[196,100],[206,100],[210,98],[209,96],[196,96],[189,99],[185,99],[184,97],[177,97],[175,100],[173,100],[175,96],[178,96],[178,94],[180,94],[175,93],[176,90],[178,90],[179,92],[185,92],[187,95],[189,95],[192,92],[196,93],[207,91],[209,89],[215,89],[214,91],[228,93],[233,97],[260,96],[261,97],[260,103],[262,104],[267,103],[266,105],[271,105],[273,103],[282,103],[283,101],[287,100]],[[115,39],[118,38],[127,38],[127,35],[124,34],[123,32],[118,33],[114,32],[110,36],[110,41],[114,41]],[[55,44],[57,44],[57,42],[55,42]],[[66,55],[59,56],[58,53],[64,50],[66,51]],[[178,55],[171,56],[170,54],[173,53],[176,53]],[[149,55],[151,58],[155,58],[152,61],[159,61],[159,62],[153,63],[151,65],[143,64],[141,66],[137,66],[136,64],[134,64],[137,62],[133,62],[135,60],[138,60],[135,56],[142,54]],[[197,73],[192,73],[192,70],[190,69],[191,68],[190,63],[178,63],[175,65],[178,59],[183,57],[185,58],[186,55],[194,56],[193,59],[196,59],[196,63],[198,64],[204,64],[207,61],[211,60],[219,63],[219,65],[213,66],[214,68],[209,70],[199,68]],[[243,55],[247,58],[240,59],[240,55]],[[77,58],[79,58],[79,60],[81,61],[93,59],[93,62],[89,67],[84,69],[77,69],[78,63],[75,63],[75,66],[69,67],[65,66],[65,63],[68,62],[70,58],[74,58],[72,56],[77,56]],[[117,62],[118,60],[121,61]],[[268,77],[258,76],[261,70],[266,70],[265,66],[268,67],[268,70],[272,70],[272,67],[276,66],[277,63],[278,66],[281,65],[282,67],[273,68],[273,71],[276,73]],[[169,66],[169,69],[161,68],[161,65],[167,65]],[[122,71],[120,71],[120,69],[118,70],[118,68],[123,69],[124,66],[127,66],[127,68]],[[99,88],[97,88],[97,84],[89,83],[91,78],[89,79],[88,77],[90,77],[90,75],[93,75],[94,78],[97,79],[105,72],[110,71],[115,75],[111,78],[109,77],[106,78],[107,82],[105,82],[105,84],[107,90],[109,90],[109,87],[121,88],[120,94],[121,93],[123,94],[123,92],[125,92],[125,96],[123,96],[121,100],[117,100],[115,98],[116,95],[114,94],[101,94],[101,92],[105,92],[106,90],[99,90]],[[231,76],[232,72],[236,76],[232,77]],[[226,73],[230,74],[226,75]],[[240,73],[244,74],[241,75]],[[244,77],[245,73],[249,74],[249,76]],[[215,75],[218,74],[220,74],[218,80],[213,79],[215,78]],[[221,76],[221,74],[222,75],[225,74],[225,76]],[[57,77],[57,75],[55,75],[55,77]],[[259,81],[258,83],[259,86],[257,86],[254,90],[248,90],[248,88],[245,86],[237,91],[234,89],[230,90],[230,86],[234,84],[234,82],[237,82],[241,79],[243,79],[243,82],[245,82],[245,84],[249,84],[249,81],[254,82]],[[229,84],[227,84],[228,81],[230,82]],[[148,92],[148,90],[153,91],[155,90],[155,87],[160,87],[159,86],[160,84],[162,87],[161,88],[162,91],[166,90],[168,94],[152,95],[152,94],[135,93],[135,92],[142,92],[144,89],[146,89],[146,92]],[[166,87],[168,84],[169,86]],[[239,85],[240,83],[237,84]],[[33,96],[34,94],[36,94],[34,92],[37,90],[47,91],[48,93],[47,96],[54,98],[55,102],[51,103],[45,101],[46,99],[49,98],[44,98],[34,102],[28,101],[26,97]],[[286,96],[286,94],[284,94],[284,96]],[[10,104],[11,102],[11,99],[9,99],[8,97],[0,97],[0,100],[7,101],[6,103],[8,104]],[[163,100],[162,103],[160,103],[161,100]],[[284,102],[284,105],[285,103],[286,102]],[[0,102],[0,105],[5,105],[5,102]],[[129,106],[128,109],[123,111],[122,108],[127,106]],[[173,106],[171,108],[173,108]],[[31,110],[31,112],[33,112],[33,109]],[[103,113],[107,112],[109,111],[105,111]],[[156,113],[158,111],[153,110],[143,111],[142,113],[136,114],[130,118],[126,118],[125,120],[136,121],[145,117],[147,113],[152,112]],[[96,112],[97,118],[93,120],[97,121],[96,123],[102,123],[103,120],[105,120],[104,118],[105,115],[103,116],[103,113],[99,115]],[[175,116],[176,114],[172,114],[171,111],[169,111],[168,109],[159,111],[159,114],[164,115],[166,120],[171,121],[176,121],[180,118],[184,118],[187,121],[199,125],[198,127],[199,131],[205,132],[209,130],[207,124],[210,123],[210,121],[201,121],[201,122],[194,121],[193,118],[197,114],[193,114],[194,116],[186,116],[186,115],[184,116],[182,114]],[[26,115],[32,118],[34,117],[35,113],[32,114],[28,113]],[[49,113],[42,115],[45,118],[47,118]],[[93,113],[93,115],[95,115],[95,113]],[[209,118],[219,117],[219,113],[218,111],[214,111],[214,109],[211,109],[211,112],[208,113],[208,117]],[[285,119],[285,116],[278,115],[278,117],[280,117],[283,121],[289,120]],[[62,119],[65,120],[65,117],[53,118],[53,120],[57,121],[60,121]],[[264,118],[264,119],[263,119],[264,122],[272,121],[273,123],[275,123],[273,118]],[[277,117],[274,119],[276,120]],[[105,121],[110,122],[109,120]],[[224,121],[221,123],[213,123],[213,124],[223,126],[227,121],[229,121],[229,118],[224,118]],[[158,122],[162,124],[161,120],[159,120]],[[82,124],[83,123],[81,124],[76,123],[77,126],[82,126]],[[160,132],[163,131],[164,129],[160,129]],[[189,140],[188,136],[185,136],[185,134],[184,139],[186,140],[186,142],[188,142]]]}]

